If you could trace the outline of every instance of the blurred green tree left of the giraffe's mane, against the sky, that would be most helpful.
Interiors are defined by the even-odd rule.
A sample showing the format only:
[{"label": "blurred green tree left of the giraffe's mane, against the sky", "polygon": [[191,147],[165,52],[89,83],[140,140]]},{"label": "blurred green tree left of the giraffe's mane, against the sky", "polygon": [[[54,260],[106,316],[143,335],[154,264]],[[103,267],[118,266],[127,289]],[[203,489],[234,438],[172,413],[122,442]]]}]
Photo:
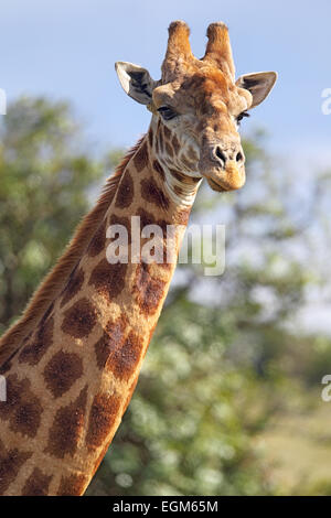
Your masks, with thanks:
[{"label": "blurred green tree left of the giraffe's mane, against the sky", "polygon": [[1,120],[0,333],[62,253],[102,176],[68,105],[22,98]]}]

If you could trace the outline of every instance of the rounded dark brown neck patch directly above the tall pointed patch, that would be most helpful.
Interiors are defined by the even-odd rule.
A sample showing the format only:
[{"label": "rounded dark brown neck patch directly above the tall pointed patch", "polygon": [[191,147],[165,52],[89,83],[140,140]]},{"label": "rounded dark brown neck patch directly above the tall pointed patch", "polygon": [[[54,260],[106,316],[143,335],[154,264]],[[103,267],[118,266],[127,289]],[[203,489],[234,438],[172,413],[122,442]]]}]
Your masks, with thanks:
[{"label": "rounded dark brown neck patch directly above the tall pointed patch", "polygon": [[83,361],[76,354],[58,350],[44,369],[44,380],[54,398],[60,398],[83,375]]}]

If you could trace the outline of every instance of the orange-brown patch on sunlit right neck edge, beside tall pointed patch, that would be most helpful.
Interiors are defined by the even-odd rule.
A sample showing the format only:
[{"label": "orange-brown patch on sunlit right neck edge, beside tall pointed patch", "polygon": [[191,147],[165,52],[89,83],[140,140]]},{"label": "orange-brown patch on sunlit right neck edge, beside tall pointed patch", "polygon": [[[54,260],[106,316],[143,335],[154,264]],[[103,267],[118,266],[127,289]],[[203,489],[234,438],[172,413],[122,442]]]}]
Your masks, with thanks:
[{"label": "orange-brown patch on sunlit right neck edge, beside tall pointed patch", "polygon": [[98,393],[95,396],[88,420],[86,445],[99,447],[114,427],[121,399],[117,395]]}]

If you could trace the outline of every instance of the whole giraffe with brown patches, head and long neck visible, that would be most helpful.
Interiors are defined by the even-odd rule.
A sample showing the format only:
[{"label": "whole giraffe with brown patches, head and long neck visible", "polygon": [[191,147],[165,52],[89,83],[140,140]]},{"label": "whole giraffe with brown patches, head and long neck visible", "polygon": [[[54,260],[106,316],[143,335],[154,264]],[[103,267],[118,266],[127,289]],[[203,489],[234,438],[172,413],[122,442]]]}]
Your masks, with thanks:
[{"label": "whole giraffe with brown patches, head and long neck visible", "polygon": [[[131,399],[202,180],[217,192],[245,183],[238,125],[276,73],[235,80],[226,25],[209,26],[202,60],[189,32],[182,21],[170,24],[158,82],[146,68],[116,63],[124,90],[151,111],[148,132],[0,342],[1,495],[84,494]],[[150,225],[162,229],[160,262],[143,260]],[[118,226],[128,231],[127,261],[107,253]]]}]

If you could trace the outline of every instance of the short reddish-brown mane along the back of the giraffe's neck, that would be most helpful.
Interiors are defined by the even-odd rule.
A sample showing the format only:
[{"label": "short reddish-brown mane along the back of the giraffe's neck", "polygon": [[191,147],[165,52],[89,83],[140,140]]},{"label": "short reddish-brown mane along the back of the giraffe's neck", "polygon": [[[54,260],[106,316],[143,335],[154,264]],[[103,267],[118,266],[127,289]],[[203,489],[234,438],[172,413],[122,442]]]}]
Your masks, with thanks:
[{"label": "short reddish-brown mane along the back of the giraffe's neck", "polygon": [[95,207],[83,217],[64,253],[57,259],[55,266],[34,291],[20,319],[1,336],[0,366],[15,354],[24,337],[36,326],[50,304],[65,285],[70,274],[102,223],[128,162],[136,154],[143,139],[145,136],[125,154],[115,173],[107,179]]}]

